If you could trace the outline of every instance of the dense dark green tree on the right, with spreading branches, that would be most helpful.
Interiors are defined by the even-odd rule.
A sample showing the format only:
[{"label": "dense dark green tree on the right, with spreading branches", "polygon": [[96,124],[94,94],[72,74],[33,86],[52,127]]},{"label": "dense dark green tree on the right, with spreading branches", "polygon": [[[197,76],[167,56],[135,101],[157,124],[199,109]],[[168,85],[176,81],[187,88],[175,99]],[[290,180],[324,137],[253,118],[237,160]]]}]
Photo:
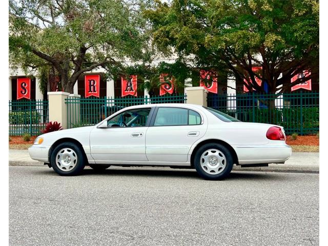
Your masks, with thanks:
[{"label": "dense dark green tree on the right, with spreading branches", "polygon": [[[163,54],[176,52],[195,68],[233,74],[250,91],[264,92],[257,78],[274,93],[318,75],[317,0],[155,0],[144,13]],[[252,71],[257,66],[261,72]],[[311,75],[291,83],[303,70]]]}]

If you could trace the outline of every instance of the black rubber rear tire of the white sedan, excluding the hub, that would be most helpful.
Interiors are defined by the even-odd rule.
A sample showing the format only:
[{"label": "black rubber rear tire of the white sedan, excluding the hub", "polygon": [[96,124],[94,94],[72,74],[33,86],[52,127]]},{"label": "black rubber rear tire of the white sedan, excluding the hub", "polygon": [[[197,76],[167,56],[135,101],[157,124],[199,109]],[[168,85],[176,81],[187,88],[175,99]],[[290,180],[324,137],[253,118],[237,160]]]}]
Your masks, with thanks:
[{"label": "black rubber rear tire of the white sedan, excluding the hub", "polygon": [[[224,168],[219,168],[220,173],[218,174],[210,174],[207,171],[205,171],[202,168],[201,165],[201,156],[203,153],[206,153],[206,151],[209,151],[211,149],[215,149],[220,151],[224,157],[226,157],[226,161],[224,162]],[[215,144],[215,143],[209,143],[209,144],[205,144],[203,146],[201,146],[194,157],[194,167],[197,171],[197,173],[199,174],[199,176],[201,176],[204,179],[207,180],[221,180],[223,178],[226,178],[229,176],[232,167],[233,167],[233,157],[232,154],[230,153],[229,149],[227,149],[226,147],[224,147],[223,145],[220,144]]]}]

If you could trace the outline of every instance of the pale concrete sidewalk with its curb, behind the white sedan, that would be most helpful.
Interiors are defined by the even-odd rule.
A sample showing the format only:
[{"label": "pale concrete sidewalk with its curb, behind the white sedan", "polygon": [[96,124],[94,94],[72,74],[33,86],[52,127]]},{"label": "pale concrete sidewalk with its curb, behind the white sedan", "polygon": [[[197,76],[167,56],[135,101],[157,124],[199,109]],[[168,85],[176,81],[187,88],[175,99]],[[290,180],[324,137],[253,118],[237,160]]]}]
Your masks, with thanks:
[{"label": "pale concrete sidewalk with its curb, behind the white sedan", "polygon": [[[44,166],[44,163],[32,160],[27,150],[9,150],[9,165]],[[269,167],[262,168],[240,168],[240,166],[234,166],[234,170],[318,173],[319,153],[293,152],[291,158],[289,160],[286,160],[284,164],[269,164]]]}]

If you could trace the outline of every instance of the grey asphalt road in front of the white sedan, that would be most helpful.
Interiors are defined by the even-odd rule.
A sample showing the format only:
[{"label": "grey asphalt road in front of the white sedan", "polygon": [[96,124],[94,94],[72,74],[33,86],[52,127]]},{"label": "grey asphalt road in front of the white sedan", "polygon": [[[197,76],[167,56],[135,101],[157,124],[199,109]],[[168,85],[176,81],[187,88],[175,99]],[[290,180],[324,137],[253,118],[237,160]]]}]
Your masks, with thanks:
[{"label": "grey asphalt road in front of the white sedan", "polygon": [[10,245],[318,245],[319,175],[9,167]]}]

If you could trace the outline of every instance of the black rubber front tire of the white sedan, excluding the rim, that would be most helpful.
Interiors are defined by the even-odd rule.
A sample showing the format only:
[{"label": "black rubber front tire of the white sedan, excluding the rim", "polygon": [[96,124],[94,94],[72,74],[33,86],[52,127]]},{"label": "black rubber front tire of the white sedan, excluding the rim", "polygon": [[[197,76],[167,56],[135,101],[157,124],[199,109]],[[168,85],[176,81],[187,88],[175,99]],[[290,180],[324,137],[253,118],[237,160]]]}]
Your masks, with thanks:
[{"label": "black rubber front tire of the white sedan, excluding the rim", "polygon": [[[56,163],[56,156],[59,151],[63,149],[71,149],[75,152],[76,161],[74,162],[74,167],[68,171],[61,170]],[[87,159],[84,152],[73,142],[63,142],[56,146],[50,156],[50,164],[53,170],[61,176],[74,176],[78,175],[85,167]],[[60,162],[60,161],[59,161]]]}]

